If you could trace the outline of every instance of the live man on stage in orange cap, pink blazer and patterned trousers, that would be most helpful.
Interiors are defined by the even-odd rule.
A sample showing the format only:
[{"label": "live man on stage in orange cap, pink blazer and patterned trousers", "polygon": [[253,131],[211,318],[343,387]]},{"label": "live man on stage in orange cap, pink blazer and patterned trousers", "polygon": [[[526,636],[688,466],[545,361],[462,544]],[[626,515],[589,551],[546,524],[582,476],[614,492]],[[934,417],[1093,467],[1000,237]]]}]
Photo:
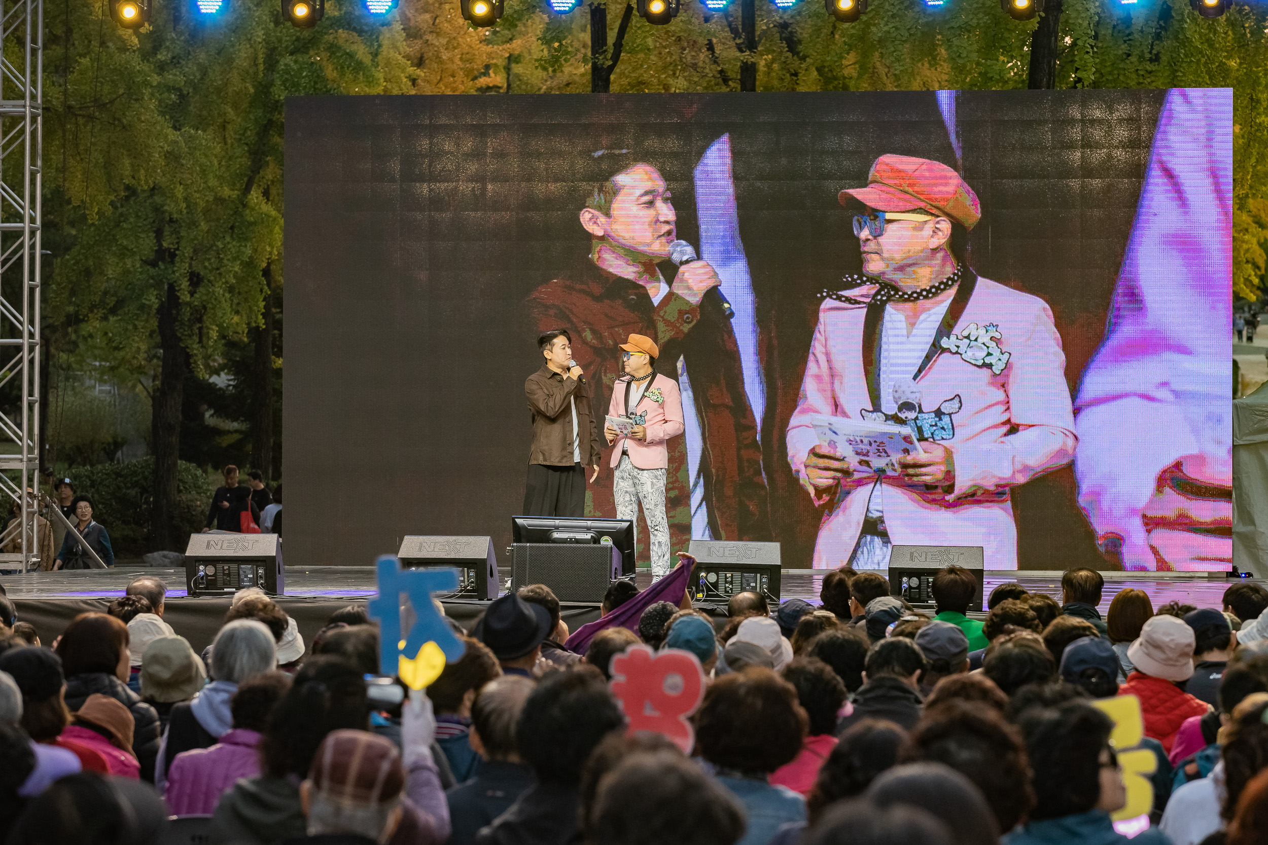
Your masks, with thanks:
[{"label": "live man on stage in orange cap, pink blazer and patterned trousers", "polygon": [[616,518],[638,521],[638,505],[652,535],[652,580],[670,574],[670,521],[664,514],[664,479],[670,466],[666,441],[682,433],[682,394],[678,383],[653,369],[661,350],[649,337],[630,334],[621,343],[625,375],[612,385],[609,417],[625,417],[634,426],[621,436],[604,427],[612,450],[612,492]]}]

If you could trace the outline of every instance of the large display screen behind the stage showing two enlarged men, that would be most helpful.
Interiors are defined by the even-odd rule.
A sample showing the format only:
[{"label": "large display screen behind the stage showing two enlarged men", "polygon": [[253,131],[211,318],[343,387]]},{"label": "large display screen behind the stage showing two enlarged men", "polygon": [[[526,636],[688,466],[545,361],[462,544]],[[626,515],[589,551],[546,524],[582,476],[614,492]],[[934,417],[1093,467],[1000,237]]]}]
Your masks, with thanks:
[{"label": "large display screen behind the stage showing two enlarged men", "polygon": [[[1231,133],[1226,89],[292,98],[287,561],[505,557],[562,328],[600,429],[658,345],[673,550],[1227,569]],[[820,471],[828,418],[927,475]],[[585,507],[616,517],[606,443]]]}]

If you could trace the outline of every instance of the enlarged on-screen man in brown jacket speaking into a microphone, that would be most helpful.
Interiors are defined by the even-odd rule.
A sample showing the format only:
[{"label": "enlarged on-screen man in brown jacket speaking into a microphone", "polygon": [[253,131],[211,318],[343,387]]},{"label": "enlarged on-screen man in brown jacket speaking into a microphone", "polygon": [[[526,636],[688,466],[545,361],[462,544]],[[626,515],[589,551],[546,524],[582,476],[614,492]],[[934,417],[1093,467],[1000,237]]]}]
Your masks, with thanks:
[{"label": "enlarged on-screen man in brown jacket speaking into a microphone", "polygon": [[[671,547],[685,549],[692,537],[770,540],[757,421],[735,329],[713,290],[718,274],[700,260],[683,262],[671,279],[663,275],[672,267],[677,214],[654,165],[630,149],[600,149],[585,151],[569,166],[573,180],[586,184],[572,213],[591,250],[529,295],[529,331],[572,331],[572,356],[596,385],[600,414],[623,393],[616,385],[602,394],[625,375],[623,350],[612,341],[629,333],[650,338],[659,371],[692,388],[683,390],[686,431],[666,443],[670,511],[690,508],[691,514],[670,526]],[[616,457],[619,464],[620,450]],[[615,466],[605,461],[600,469],[588,513],[616,511]]]}]

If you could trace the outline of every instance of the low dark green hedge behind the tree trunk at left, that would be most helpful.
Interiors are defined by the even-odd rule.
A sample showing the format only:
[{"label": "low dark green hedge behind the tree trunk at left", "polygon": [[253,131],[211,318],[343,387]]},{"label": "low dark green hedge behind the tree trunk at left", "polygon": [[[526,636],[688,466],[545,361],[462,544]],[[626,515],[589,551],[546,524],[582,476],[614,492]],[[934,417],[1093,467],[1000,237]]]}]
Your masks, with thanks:
[{"label": "low dark green hedge behind the tree trunk at left", "polygon": [[[153,471],[153,459],[143,457],[127,464],[84,466],[71,474],[76,492],[93,497],[93,518],[110,533],[117,555],[147,549]],[[203,470],[181,461],[176,465],[176,492],[178,536],[200,531],[214,485]]]}]

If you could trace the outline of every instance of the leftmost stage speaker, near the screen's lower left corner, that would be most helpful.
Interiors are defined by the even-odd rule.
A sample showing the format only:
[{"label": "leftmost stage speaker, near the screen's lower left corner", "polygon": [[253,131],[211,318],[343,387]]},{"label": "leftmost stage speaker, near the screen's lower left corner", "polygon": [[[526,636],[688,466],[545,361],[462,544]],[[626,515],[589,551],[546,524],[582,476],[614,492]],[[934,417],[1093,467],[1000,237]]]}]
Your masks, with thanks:
[{"label": "leftmost stage speaker, near the screen's lower left corner", "polygon": [[285,580],[278,535],[213,531],[189,536],[185,547],[188,595],[232,595],[247,587],[281,595]]}]

